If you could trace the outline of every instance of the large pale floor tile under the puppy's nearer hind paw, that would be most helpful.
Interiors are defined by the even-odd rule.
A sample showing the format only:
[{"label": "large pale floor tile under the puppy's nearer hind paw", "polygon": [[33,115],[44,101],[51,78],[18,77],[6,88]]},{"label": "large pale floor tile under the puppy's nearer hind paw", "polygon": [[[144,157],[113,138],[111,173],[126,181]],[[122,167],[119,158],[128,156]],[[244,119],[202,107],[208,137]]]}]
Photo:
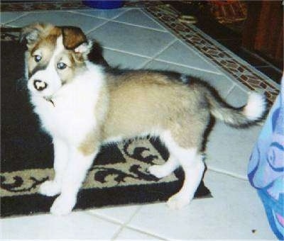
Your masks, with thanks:
[{"label": "large pale floor tile under the puppy's nearer hind paw", "polygon": [[195,199],[180,211],[164,203],[146,205],[129,226],[173,240],[275,238],[248,181],[214,172],[207,172],[204,181],[213,198]]}]

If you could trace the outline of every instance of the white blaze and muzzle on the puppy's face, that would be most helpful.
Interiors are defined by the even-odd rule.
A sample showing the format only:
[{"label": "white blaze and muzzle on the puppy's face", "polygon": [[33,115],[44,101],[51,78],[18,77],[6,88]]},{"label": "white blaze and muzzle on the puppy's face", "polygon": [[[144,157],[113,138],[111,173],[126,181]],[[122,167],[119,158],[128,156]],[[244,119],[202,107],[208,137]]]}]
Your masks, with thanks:
[{"label": "white blaze and muzzle on the puppy's face", "polygon": [[[38,72],[35,72],[31,79],[28,80],[28,89],[33,94],[43,97],[52,97],[53,94],[60,89],[62,83],[57,72],[56,61],[58,60],[58,55],[60,55],[63,50],[65,50],[65,47],[63,45],[62,35],[60,35],[56,41],[56,47],[52,57],[50,58],[50,62],[48,62],[48,66],[45,69],[40,69]],[[34,85],[36,81],[43,82],[43,85],[45,83],[47,87],[41,91],[38,91],[35,89]]]}]

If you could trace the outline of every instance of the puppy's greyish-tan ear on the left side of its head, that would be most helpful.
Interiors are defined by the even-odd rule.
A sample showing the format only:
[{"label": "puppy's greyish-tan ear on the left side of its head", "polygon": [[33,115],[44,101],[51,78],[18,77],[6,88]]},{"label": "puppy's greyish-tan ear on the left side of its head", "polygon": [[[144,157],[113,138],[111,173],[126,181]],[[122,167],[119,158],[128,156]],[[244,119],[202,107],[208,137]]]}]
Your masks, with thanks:
[{"label": "puppy's greyish-tan ear on the left side of its head", "polygon": [[26,41],[28,46],[33,45],[33,43],[38,41],[40,34],[44,33],[48,27],[51,27],[51,25],[44,23],[33,23],[32,25],[23,27],[21,30],[20,41]]}]

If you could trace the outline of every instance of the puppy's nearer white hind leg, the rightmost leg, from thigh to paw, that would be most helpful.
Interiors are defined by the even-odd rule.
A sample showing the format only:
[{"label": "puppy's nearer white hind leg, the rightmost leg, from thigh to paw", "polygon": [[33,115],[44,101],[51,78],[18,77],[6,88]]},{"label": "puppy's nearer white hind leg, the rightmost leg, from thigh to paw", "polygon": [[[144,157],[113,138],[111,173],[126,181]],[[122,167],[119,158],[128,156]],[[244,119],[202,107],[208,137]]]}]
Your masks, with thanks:
[{"label": "puppy's nearer white hind leg, the rightmost leg, from thigh to paw", "polygon": [[204,172],[202,155],[200,155],[199,152],[199,145],[181,147],[173,138],[170,131],[162,135],[162,140],[165,146],[168,147],[170,155],[178,159],[178,162],[185,172],[185,181],[182,185],[182,189],[180,189],[177,194],[171,196],[167,203],[172,209],[180,209],[190,203],[200,184]]}]

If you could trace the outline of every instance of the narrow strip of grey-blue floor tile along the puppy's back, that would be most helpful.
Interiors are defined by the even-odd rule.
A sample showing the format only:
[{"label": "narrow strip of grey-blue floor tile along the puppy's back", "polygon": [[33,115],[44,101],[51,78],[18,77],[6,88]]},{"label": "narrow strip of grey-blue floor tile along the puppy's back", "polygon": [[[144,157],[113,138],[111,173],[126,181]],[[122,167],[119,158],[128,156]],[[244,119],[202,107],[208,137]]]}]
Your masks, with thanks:
[{"label": "narrow strip of grey-blue floor tile along the puppy's back", "polygon": [[231,89],[231,87],[233,86],[233,82],[231,82],[231,80],[225,77],[224,75],[204,72],[199,69],[182,67],[180,65],[173,65],[167,62],[161,62],[161,61],[154,60],[154,61],[148,62],[147,65],[145,65],[145,67],[143,68],[172,70],[172,71],[177,71],[177,72],[184,73],[184,74],[190,74],[195,77],[200,77],[204,81],[214,86],[219,91],[219,94],[223,97],[226,96],[226,94],[229,92],[229,89]]}]

